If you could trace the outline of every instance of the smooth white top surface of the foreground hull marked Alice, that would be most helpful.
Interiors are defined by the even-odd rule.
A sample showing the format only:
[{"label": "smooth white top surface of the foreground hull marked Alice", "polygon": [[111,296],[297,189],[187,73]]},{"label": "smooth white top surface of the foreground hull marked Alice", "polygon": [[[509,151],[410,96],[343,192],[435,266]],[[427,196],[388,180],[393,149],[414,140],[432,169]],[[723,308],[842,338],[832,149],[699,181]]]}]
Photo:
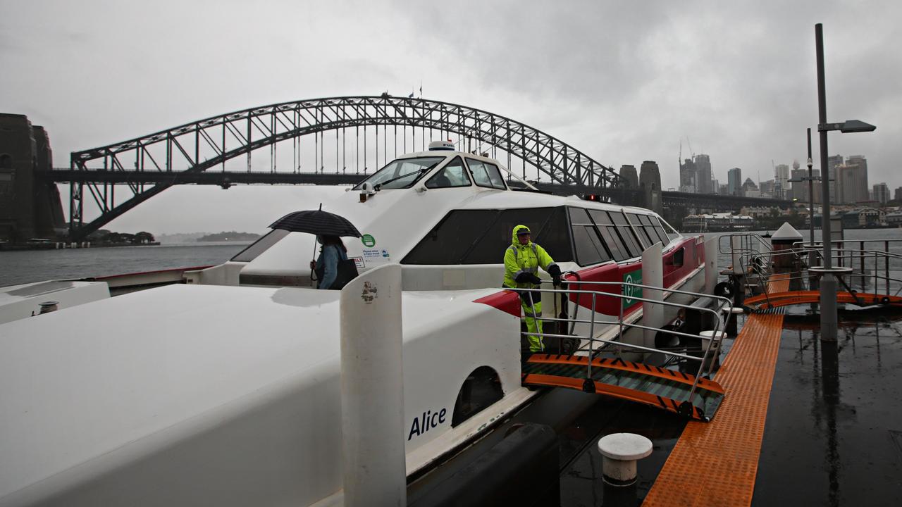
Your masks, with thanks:
[{"label": "smooth white top surface of the foreground hull marked Alice", "polygon": [[[466,314],[497,291],[405,291],[405,341],[426,316]],[[339,296],[178,284],[0,326],[0,499],[76,466],[100,474],[99,456],[164,447],[337,371]]]}]

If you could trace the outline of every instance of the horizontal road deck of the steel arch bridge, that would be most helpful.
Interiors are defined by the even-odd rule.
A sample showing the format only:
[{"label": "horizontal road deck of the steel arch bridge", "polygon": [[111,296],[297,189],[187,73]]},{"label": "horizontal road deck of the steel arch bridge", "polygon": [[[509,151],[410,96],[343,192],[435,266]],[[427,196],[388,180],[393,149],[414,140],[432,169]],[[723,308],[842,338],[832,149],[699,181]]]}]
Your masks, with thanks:
[{"label": "horizontal road deck of the steel arch bridge", "polygon": [[[363,173],[336,172],[262,172],[262,171],[104,171],[53,168],[40,177],[55,183],[107,183],[170,185],[356,185],[369,176]],[[561,196],[597,195],[626,206],[644,206],[640,189],[599,188],[586,185],[531,182],[536,188]],[[772,198],[744,198],[694,194],[689,192],[661,192],[664,208],[703,208],[716,211],[738,211],[741,207],[790,207],[792,201]]]}]

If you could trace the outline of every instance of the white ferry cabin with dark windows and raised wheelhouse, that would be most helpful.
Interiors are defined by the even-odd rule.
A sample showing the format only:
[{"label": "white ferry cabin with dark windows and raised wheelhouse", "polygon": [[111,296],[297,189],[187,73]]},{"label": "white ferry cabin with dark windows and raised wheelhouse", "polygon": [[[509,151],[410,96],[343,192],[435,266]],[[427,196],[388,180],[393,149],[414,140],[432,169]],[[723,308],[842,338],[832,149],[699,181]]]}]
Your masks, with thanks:
[{"label": "white ferry cabin with dark windows and raised wheelhouse", "polygon": [[[504,250],[519,224],[529,226],[533,241],[564,271],[638,263],[656,243],[670,272],[685,259],[698,265],[695,238],[683,237],[648,209],[540,192],[497,161],[451,151],[449,144],[433,143],[428,152],[391,161],[323,203],[322,209],[347,218],[363,234],[343,238],[358,272],[400,263],[405,290],[500,287]],[[276,229],[229,263],[189,273],[188,280],[308,287],[317,251],[313,235]]]}]

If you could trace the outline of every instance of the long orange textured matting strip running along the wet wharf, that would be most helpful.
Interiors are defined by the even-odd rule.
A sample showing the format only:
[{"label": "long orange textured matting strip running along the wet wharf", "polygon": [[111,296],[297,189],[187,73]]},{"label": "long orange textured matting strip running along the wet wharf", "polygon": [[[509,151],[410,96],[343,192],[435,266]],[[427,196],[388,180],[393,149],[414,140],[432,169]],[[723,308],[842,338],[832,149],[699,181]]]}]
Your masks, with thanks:
[{"label": "long orange textured matting strip running along the wet wharf", "polygon": [[[770,290],[781,286],[788,279]],[[782,332],[782,314],[746,321],[715,377],[725,392],[717,417],[686,424],[643,506],[751,504]]]}]

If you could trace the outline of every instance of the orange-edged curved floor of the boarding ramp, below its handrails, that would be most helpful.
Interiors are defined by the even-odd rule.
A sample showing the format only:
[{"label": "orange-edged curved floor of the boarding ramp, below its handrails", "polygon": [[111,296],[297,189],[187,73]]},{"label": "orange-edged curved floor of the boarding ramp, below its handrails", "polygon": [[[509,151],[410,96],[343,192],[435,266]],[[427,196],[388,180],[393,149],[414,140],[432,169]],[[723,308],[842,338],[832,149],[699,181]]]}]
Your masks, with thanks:
[{"label": "orange-edged curved floor of the boarding ramp, below its handrails", "polygon": [[[523,364],[523,385],[554,386],[585,390],[585,355],[529,355]],[[698,378],[650,364],[621,358],[592,359],[594,392],[637,401],[692,419],[708,421],[723,401],[723,387],[713,380]],[[695,394],[691,396],[695,383]]]}]

